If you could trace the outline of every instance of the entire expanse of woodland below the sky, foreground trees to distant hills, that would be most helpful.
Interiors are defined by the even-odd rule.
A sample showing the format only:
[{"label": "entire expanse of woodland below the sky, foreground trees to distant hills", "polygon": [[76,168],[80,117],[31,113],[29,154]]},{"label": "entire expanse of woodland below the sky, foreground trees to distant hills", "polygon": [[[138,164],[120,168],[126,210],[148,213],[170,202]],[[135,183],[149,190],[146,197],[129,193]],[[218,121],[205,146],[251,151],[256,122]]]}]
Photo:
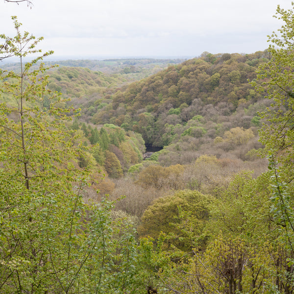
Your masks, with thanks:
[{"label": "entire expanse of woodland below the sky, foreground trees to distant hills", "polygon": [[59,67],[23,62],[42,38],[13,17],[0,293],[293,294],[294,4],[277,17],[251,54]]}]

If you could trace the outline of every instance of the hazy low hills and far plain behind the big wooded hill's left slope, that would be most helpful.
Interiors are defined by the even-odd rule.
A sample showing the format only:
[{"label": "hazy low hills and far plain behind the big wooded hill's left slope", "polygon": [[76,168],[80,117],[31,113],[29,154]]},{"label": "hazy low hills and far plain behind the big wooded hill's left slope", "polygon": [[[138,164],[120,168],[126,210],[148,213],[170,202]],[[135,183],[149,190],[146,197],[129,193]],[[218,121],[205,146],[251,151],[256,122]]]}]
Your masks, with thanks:
[{"label": "hazy low hills and far plain behind the big wooded hill's left slope", "polygon": [[[160,72],[181,59],[109,59],[63,60],[49,71],[49,89],[70,98],[70,104],[82,108],[84,121],[89,122],[98,109],[111,102],[118,87]],[[54,64],[47,62],[46,65]],[[13,64],[7,65],[13,68]]]}]

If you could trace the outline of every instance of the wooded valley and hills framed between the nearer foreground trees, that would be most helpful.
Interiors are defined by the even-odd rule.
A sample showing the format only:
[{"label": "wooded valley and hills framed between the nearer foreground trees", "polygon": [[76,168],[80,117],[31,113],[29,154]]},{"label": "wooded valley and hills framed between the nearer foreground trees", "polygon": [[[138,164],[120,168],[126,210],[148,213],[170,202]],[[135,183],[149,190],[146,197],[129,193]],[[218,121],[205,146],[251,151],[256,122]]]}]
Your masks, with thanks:
[{"label": "wooded valley and hills framed between the nearer foreground trees", "polygon": [[[267,51],[206,52],[158,72],[155,63],[147,70],[147,60],[141,73],[133,65],[138,61],[107,60],[118,72],[111,74],[74,66],[88,61],[72,61],[71,67],[49,72],[49,88],[81,108],[69,127],[87,146],[79,165],[93,169],[100,195],[125,195],[117,208],[142,216],[170,190],[213,194],[236,172],[252,170],[256,176],[267,169],[267,160],[258,156],[263,148],[258,130],[263,123],[259,112],[270,100],[248,81],[255,80],[258,65],[269,57]],[[140,79],[145,71],[149,76]],[[163,148],[143,160],[144,144]],[[97,197],[92,194],[88,191],[90,198]]]}]

